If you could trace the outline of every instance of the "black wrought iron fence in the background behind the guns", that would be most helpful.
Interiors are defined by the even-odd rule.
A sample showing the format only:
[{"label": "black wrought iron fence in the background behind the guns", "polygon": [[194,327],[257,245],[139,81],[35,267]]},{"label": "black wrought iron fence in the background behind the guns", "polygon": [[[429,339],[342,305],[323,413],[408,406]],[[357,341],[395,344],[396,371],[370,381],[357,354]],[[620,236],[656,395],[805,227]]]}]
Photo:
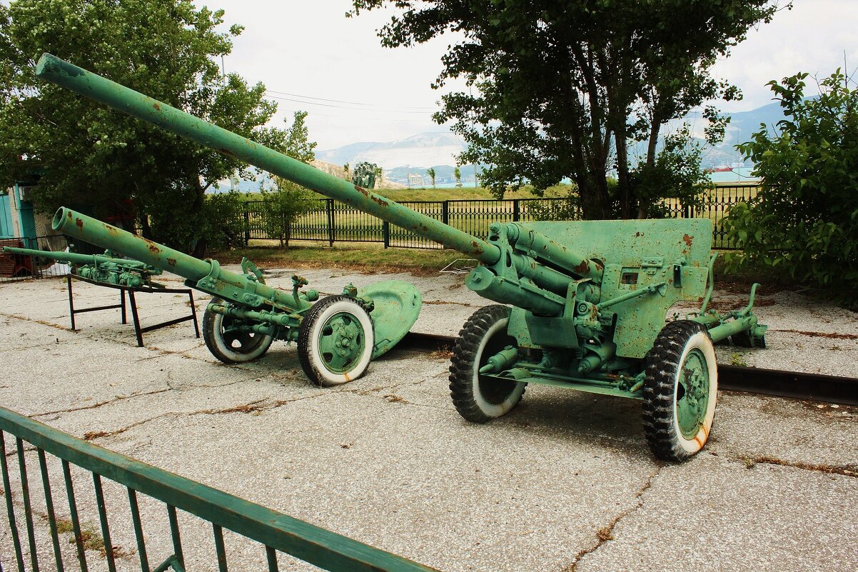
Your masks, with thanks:
[{"label": "black wrought iron fence in the background behind the guns", "polygon": [[[662,202],[662,209],[665,216],[671,218],[708,216],[715,225],[713,246],[731,249],[735,245],[728,240],[724,217],[731,206],[756,196],[756,193],[757,186],[754,185],[717,186],[714,191],[706,192],[696,207],[680,204],[676,199],[666,199]],[[400,248],[442,247],[406,228],[383,222],[333,199],[315,203],[317,208],[300,216],[282,234],[288,234],[289,240],[323,240],[331,246],[342,241],[381,242],[384,247]],[[576,220],[582,216],[580,207],[569,198],[456,199],[402,201],[401,204],[483,239],[492,222]],[[246,203],[245,240],[276,240],[275,234],[279,232],[272,232],[272,225],[265,220],[262,201]]]}]

